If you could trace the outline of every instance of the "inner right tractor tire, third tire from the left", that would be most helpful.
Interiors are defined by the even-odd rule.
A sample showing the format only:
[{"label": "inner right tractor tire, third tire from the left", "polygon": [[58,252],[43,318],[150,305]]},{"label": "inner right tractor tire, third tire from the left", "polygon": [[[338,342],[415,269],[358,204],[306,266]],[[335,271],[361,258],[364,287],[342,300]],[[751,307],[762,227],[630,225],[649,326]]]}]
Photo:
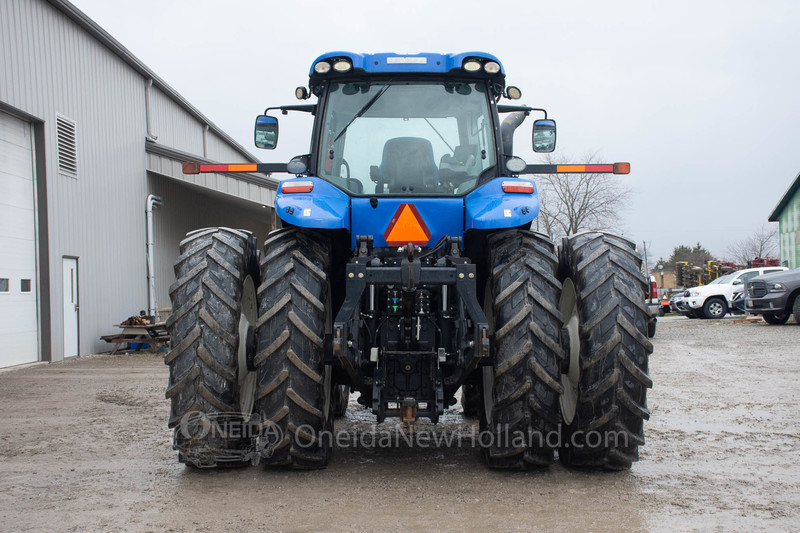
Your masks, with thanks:
[{"label": "inner right tractor tire, third tire from the left", "polygon": [[489,238],[490,327],[494,366],[484,367],[481,439],[492,468],[547,466],[554,460],[559,411],[561,283],[555,245],[544,235],[510,230]]}]

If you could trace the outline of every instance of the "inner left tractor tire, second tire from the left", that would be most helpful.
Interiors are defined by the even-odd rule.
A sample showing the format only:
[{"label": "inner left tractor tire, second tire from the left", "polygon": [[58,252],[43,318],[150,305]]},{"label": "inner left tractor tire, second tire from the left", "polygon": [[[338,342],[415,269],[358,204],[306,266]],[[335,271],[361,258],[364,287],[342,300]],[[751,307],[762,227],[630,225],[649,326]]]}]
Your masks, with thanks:
[{"label": "inner left tractor tire, second tire from the left", "polygon": [[279,436],[259,443],[268,465],[314,469],[330,459],[333,394],[323,361],[329,257],[329,243],[303,230],[274,232],[264,244],[254,416],[261,430]]}]

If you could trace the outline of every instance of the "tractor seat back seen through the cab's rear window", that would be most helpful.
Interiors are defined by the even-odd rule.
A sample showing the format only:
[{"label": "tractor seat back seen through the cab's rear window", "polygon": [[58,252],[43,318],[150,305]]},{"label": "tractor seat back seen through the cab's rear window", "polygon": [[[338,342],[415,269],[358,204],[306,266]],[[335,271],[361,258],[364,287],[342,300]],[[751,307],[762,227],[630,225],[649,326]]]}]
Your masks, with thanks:
[{"label": "tractor seat back seen through the cab's rear window", "polygon": [[386,184],[390,193],[431,191],[439,184],[438,173],[429,140],[396,137],[383,145],[380,181],[376,189],[383,190]]}]

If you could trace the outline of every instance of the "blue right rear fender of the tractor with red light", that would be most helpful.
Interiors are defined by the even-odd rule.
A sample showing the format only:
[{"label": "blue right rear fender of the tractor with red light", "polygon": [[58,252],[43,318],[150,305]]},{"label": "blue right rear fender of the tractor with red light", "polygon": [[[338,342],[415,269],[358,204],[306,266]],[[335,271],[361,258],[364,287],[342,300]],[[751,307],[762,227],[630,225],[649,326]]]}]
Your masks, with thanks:
[{"label": "blue right rear fender of the tractor with red light", "polygon": [[530,224],[539,214],[539,193],[534,184],[531,194],[507,193],[504,181],[527,181],[519,178],[495,178],[478,187],[464,199],[464,230],[513,228]]}]

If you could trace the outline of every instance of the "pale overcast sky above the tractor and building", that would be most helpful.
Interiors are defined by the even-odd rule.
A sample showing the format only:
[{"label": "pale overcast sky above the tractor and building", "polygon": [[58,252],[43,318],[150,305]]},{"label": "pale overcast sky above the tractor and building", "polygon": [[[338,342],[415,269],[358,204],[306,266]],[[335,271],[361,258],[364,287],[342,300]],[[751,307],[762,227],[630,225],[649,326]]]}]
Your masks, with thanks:
[{"label": "pale overcast sky above the tractor and building", "polygon": [[326,51],[492,53],[558,122],[558,155],[630,161],[620,229],[651,260],[698,241],[723,256],[800,172],[797,1],[72,1],[265,162],[308,151],[301,114],[274,152],[252,126]]}]

